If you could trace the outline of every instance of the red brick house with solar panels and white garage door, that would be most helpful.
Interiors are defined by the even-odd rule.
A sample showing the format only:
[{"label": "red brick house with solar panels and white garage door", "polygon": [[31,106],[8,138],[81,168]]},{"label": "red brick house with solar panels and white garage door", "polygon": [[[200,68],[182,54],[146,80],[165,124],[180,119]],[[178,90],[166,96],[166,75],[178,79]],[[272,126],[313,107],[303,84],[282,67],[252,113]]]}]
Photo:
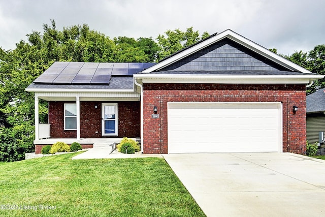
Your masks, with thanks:
[{"label": "red brick house with solar panels and white garage door", "polygon": [[157,64],[56,62],[26,90],[37,153],[125,136],[143,153],[304,153],[306,86],[322,77],[228,29]]}]

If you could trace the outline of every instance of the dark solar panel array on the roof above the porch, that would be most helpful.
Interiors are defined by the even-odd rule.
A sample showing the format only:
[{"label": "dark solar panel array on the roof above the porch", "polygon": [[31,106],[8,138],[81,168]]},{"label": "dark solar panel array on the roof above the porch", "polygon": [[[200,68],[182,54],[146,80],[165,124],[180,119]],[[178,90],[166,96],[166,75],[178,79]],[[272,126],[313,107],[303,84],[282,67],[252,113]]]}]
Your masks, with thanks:
[{"label": "dark solar panel array on the roof above the porch", "polygon": [[111,77],[132,77],[155,63],[55,62],[36,84],[109,84]]}]

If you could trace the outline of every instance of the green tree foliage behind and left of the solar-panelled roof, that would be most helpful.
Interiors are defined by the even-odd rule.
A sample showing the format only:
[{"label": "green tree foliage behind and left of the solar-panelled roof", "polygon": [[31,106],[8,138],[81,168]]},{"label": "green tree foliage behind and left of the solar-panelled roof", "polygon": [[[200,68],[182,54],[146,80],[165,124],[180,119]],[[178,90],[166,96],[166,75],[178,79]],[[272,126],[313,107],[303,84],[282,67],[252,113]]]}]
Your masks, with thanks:
[{"label": "green tree foliage behind and left of the solar-panelled roof", "polygon": [[[51,20],[43,24],[43,33],[32,31],[14,50],[0,48],[0,161],[22,160],[25,152],[34,151],[34,95],[25,88],[55,61],[153,62],[208,36],[200,38],[192,27],[166,34],[158,36],[158,43],[152,38],[112,40],[86,24],[60,31]],[[47,122],[47,112],[47,102],[40,100],[40,123]]]}]

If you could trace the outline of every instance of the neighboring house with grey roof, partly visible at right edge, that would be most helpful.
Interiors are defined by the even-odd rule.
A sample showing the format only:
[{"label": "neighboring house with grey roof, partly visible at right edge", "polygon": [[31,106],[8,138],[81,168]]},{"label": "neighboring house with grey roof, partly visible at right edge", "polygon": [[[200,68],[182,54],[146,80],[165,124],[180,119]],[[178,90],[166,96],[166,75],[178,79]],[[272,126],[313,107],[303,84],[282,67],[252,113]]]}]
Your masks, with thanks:
[{"label": "neighboring house with grey roof, partly visible at right edge", "polygon": [[[325,132],[325,88],[306,97],[307,140],[309,143],[323,143],[319,138]],[[321,133],[320,133],[321,132]]]}]

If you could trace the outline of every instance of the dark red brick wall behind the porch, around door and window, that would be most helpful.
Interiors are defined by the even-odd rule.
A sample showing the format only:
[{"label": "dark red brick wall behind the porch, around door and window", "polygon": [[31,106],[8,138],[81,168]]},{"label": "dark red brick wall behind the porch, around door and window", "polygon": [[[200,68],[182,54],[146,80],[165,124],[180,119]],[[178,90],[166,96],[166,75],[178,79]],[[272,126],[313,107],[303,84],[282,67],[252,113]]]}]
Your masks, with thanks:
[{"label": "dark red brick wall behind the porch, around door and window", "polygon": [[[76,130],[64,130],[64,103],[75,102],[49,102],[51,138],[77,137]],[[102,136],[102,102],[80,102],[80,137],[140,137],[140,102],[117,104],[118,136]],[[98,108],[95,108],[95,105],[98,105]]]}]

